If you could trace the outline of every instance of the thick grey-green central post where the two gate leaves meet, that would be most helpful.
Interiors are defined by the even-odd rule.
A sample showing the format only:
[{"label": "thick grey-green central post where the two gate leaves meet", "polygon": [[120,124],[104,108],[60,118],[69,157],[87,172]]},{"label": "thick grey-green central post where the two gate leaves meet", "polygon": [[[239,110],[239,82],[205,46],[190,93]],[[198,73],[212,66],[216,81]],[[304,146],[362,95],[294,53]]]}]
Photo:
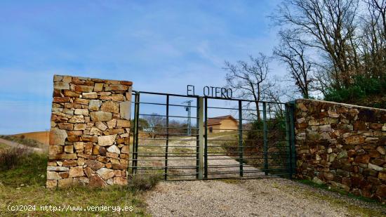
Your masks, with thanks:
[{"label": "thick grey-green central post where the two gate leaves meet", "polygon": [[198,154],[198,161],[199,161],[199,179],[201,180],[203,178],[204,173],[204,141],[206,138],[204,138],[204,98],[199,97],[198,100],[198,119],[199,122],[199,154]]}]

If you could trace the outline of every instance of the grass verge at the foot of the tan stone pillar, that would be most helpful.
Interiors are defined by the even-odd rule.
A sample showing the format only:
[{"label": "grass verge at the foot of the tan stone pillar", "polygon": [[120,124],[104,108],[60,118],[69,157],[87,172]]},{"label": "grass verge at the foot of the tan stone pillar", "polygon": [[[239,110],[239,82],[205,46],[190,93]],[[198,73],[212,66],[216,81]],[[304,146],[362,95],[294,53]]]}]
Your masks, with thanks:
[{"label": "grass verge at the foot of the tan stone pillar", "polygon": [[[12,169],[0,170],[0,216],[149,216],[146,213],[144,191],[133,187],[98,189],[73,187],[48,190],[45,154],[26,154]],[[154,182],[150,183],[152,186]],[[31,205],[29,210],[10,211],[8,206]],[[41,206],[76,207],[85,211],[41,211]],[[91,206],[127,206],[132,211],[115,212],[87,210]],[[36,210],[32,210],[32,208]]]}]

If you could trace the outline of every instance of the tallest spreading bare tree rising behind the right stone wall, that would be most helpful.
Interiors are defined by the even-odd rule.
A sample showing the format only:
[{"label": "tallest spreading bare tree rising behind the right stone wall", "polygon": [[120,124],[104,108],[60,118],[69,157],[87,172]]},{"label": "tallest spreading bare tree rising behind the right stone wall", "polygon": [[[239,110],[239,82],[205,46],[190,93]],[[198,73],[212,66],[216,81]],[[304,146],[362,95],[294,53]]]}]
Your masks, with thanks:
[{"label": "tallest spreading bare tree rising behind the right stone wall", "polygon": [[277,24],[293,29],[306,46],[326,52],[331,59],[334,88],[350,85],[358,71],[359,58],[355,31],[358,0],[289,0],[279,6],[273,18]]}]

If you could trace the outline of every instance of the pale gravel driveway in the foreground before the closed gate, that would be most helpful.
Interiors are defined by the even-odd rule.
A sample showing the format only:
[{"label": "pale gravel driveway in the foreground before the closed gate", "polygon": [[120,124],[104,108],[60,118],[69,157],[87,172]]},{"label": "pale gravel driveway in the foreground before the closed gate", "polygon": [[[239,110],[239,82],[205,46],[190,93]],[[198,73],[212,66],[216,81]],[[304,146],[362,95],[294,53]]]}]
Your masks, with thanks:
[{"label": "pale gravel driveway in the foreground before the closed gate", "polygon": [[386,215],[385,206],[282,178],[162,182],[147,204],[152,216]]}]

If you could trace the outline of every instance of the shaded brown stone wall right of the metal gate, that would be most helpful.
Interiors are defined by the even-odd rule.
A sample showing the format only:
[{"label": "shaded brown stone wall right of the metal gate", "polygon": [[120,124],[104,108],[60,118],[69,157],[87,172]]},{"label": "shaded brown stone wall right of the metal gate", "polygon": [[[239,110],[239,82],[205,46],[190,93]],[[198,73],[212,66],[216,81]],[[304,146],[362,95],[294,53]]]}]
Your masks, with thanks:
[{"label": "shaded brown stone wall right of the metal gate", "polygon": [[297,176],[386,199],[386,110],[297,100]]}]

